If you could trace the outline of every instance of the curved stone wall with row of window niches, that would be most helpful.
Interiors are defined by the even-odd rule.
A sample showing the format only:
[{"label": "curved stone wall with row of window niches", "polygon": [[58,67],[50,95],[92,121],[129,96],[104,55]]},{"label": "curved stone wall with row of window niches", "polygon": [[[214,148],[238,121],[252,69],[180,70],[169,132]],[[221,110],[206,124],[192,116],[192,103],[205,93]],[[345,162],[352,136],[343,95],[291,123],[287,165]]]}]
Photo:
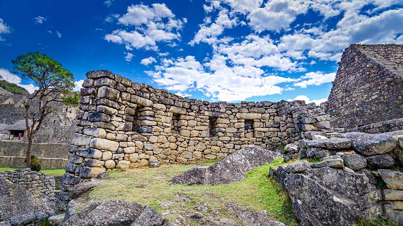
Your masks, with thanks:
[{"label": "curved stone wall with row of window niches", "polygon": [[87,78],[65,184],[106,169],[221,159],[248,144],[271,148],[330,128],[320,108],[301,101],[209,103],[110,71]]}]

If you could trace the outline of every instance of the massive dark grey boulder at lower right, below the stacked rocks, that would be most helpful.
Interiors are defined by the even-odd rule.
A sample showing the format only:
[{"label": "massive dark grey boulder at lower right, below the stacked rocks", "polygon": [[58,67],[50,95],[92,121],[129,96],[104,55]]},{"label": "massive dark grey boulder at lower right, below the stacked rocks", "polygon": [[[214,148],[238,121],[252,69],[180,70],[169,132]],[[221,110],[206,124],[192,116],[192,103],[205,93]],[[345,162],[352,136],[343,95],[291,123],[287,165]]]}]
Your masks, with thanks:
[{"label": "massive dark grey boulder at lower right, below the stacked rocks", "polygon": [[[304,174],[280,172],[301,226],[352,225],[357,219],[375,220],[382,214],[381,192],[365,174],[330,167],[309,169]],[[276,170],[276,180],[277,174]]]}]

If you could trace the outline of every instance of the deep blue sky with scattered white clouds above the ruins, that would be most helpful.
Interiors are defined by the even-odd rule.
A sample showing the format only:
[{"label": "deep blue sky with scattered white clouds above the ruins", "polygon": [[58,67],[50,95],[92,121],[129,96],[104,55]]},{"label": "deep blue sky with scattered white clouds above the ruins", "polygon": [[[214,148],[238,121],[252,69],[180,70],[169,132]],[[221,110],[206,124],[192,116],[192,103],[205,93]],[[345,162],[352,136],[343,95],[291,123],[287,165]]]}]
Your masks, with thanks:
[{"label": "deep blue sky with scattered white clouds above the ruins", "polygon": [[38,51],[207,101],[325,101],[351,43],[403,44],[403,0],[0,0],[0,75]]}]

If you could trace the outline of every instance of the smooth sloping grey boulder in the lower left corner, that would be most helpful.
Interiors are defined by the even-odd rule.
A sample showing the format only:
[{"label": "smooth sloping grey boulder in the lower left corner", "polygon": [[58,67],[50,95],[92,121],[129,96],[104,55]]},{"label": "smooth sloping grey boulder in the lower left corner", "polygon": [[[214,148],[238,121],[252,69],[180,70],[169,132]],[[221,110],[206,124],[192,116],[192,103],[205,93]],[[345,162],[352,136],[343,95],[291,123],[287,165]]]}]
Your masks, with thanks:
[{"label": "smooth sloping grey boulder in the lower left corner", "polygon": [[0,175],[0,222],[17,215],[51,210],[30,191]]}]

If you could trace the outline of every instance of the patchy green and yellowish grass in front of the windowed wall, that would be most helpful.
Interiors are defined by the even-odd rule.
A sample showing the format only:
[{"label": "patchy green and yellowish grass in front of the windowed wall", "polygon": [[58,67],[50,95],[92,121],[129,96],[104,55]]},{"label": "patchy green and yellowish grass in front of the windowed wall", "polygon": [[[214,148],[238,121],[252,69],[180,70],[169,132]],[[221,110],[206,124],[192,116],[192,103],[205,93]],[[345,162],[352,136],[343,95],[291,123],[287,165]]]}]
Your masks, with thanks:
[{"label": "patchy green and yellowish grass in front of the windowed wall", "polygon": [[[287,194],[281,191],[274,180],[267,178],[269,167],[277,167],[281,164],[283,163],[278,159],[247,173],[243,181],[214,186],[172,185],[169,182],[174,175],[193,167],[193,164],[133,169],[112,173],[110,175],[112,179],[90,192],[90,200],[132,201],[151,205],[161,212],[165,211],[161,203],[170,201],[176,204],[169,208],[169,211],[178,214],[196,212],[194,206],[205,203],[209,209],[217,211],[220,217],[230,217],[225,204],[232,202],[249,210],[266,210],[273,220],[294,226],[296,222],[292,217]],[[183,201],[184,197],[190,200]],[[175,219],[178,214],[171,214],[167,218]],[[208,213],[203,214],[208,215]],[[197,225],[196,222],[195,225]]]}]

